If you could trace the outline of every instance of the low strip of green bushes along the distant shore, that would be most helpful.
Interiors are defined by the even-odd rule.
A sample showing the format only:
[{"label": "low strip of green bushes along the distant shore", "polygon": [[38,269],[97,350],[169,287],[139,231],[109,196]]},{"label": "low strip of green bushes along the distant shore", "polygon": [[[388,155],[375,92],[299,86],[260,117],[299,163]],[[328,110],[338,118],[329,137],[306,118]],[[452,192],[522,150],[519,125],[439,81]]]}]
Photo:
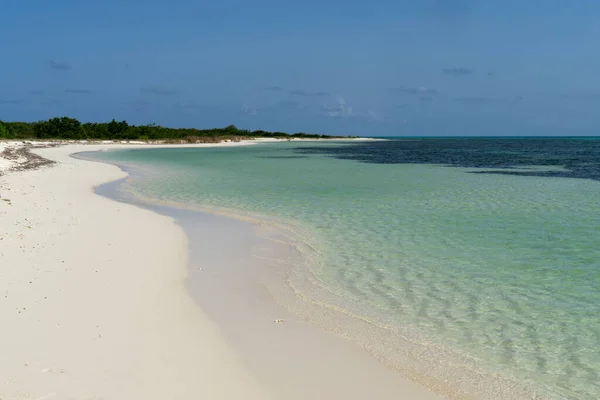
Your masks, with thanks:
[{"label": "low strip of green bushes along the distant shore", "polygon": [[150,125],[129,125],[114,119],[107,123],[81,123],[74,118],[52,118],[39,122],[2,122],[0,139],[29,140],[142,140],[165,142],[219,142],[247,138],[332,138],[333,136],[284,132],[249,131],[234,125],[215,129],[165,128]]}]

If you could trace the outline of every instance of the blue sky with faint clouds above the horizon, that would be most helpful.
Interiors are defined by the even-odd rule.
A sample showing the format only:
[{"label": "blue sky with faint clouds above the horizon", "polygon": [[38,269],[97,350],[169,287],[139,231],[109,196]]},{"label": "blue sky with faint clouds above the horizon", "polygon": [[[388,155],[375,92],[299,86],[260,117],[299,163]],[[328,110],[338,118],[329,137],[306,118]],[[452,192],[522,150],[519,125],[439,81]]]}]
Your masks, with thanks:
[{"label": "blue sky with faint clouds above the horizon", "polygon": [[597,0],[2,0],[0,120],[600,135]]}]

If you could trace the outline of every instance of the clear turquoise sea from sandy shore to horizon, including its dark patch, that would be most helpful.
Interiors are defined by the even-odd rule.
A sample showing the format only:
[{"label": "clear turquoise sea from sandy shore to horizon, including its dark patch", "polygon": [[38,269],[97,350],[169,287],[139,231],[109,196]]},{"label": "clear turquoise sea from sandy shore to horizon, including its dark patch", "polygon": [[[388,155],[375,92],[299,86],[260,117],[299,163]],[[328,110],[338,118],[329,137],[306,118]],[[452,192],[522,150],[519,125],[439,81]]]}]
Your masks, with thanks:
[{"label": "clear turquoise sea from sandy shore to horizon, including its dark patch", "polygon": [[[124,185],[140,198],[289,223],[313,283],[331,297],[290,280],[297,294],[333,299],[332,309],[429,346],[430,358],[453,349],[447,369],[462,362],[544,396],[600,398],[600,140],[305,142],[86,158],[139,172]],[[388,350],[379,356],[393,364]]]}]

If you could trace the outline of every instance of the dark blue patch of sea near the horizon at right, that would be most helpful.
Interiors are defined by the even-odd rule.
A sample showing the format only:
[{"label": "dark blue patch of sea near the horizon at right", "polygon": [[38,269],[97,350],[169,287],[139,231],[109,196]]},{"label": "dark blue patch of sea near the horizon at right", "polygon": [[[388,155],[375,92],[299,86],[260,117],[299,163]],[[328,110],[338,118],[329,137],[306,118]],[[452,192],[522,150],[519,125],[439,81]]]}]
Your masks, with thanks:
[{"label": "dark blue patch of sea near the horizon at right", "polygon": [[[447,138],[304,146],[299,154],[319,154],[372,164],[438,164],[505,169],[475,173],[593,179],[600,181],[599,138]],[[524,169],[562,167],[561,171]]]}]

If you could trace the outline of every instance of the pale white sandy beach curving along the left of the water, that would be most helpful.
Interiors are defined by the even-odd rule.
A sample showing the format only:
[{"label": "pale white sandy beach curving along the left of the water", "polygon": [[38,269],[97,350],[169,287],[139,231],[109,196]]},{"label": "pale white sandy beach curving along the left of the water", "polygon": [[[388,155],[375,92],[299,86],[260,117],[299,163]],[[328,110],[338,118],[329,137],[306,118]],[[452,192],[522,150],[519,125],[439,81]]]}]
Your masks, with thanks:
[{"label": "pale white sandy beach curving along the left of the water", "polygon": [[[283,377],[273,377],[280,380],[274,385],[257,379],[196,305],[184,285],[182,229],[96,195],[94,186],[125,173],[69,157],[114,146],[139,145],[36,149],[57,164],[0,176],[0,399],[304,398],[282,395]],[[345,391],[357,396],[343,398],[372,392],[367,386],[359,397],[352,389],[366,376],[385,398],[439,399],[349,342],[303,336],[304,329],[275,339],[291,344],[287,361],[298,368],[318,366],[322,357],[322,369],[307,376],[349,384]],[[307,346],[326,348],[307,356],[294,345],[307,338]],[[296,385],[304,379],[288,378]],[[312,398],[335,398],[323,395]]]}]

